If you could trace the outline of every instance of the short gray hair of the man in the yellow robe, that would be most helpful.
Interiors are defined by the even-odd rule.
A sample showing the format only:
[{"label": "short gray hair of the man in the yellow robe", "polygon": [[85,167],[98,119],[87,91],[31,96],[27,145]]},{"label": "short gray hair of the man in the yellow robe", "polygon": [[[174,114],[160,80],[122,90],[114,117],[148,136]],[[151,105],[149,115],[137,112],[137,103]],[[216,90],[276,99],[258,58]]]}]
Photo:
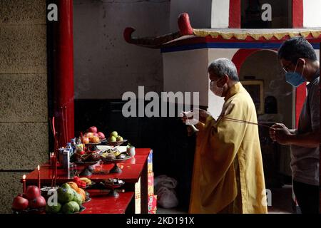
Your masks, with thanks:
[{"label": "short gray hair of the man in the yellow robe", "polygon": [[215,73],[219,78],[225,76],[225,74],[232,81],[239,81],[238,79],[238,71],[232,61],[228,58],[218,58],[208,66],[208,72]]}]

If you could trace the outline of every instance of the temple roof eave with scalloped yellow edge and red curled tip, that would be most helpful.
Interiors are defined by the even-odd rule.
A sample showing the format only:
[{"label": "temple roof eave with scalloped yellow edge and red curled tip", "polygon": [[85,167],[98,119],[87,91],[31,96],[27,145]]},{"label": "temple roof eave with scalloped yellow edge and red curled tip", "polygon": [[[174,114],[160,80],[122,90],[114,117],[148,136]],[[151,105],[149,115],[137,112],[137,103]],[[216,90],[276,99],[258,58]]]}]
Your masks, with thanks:
[{"label": "temple roof eave with scalloped yellow edge and red curled tip", "polygon": [[180,14],[178,17],[178,27],[180,31],[162,36],[136,38],[132,36],[135,28],[126,28],[123,36],[128,43],[147,48],[163,48],[173,46],[181,41],[193,40],[204,42],[204,38],[211,41],[283,41],[294,36],[304,36],[305,38],[321,38],[321,28],[199,28],[190,26],[188,14]]}]

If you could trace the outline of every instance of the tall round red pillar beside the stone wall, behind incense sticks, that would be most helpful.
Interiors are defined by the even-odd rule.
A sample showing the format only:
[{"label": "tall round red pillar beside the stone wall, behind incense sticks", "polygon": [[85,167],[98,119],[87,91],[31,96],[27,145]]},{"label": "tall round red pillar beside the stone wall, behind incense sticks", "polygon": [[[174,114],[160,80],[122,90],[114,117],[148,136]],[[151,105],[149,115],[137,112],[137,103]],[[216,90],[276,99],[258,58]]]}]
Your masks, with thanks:
[{"label": "tall round red pillar beside the stone wall, behind incense sticks", "polygon": [[58,0],[58,25],[55,33],[54,115],[59,144],[74,137],[73,100],[73,0]]}]

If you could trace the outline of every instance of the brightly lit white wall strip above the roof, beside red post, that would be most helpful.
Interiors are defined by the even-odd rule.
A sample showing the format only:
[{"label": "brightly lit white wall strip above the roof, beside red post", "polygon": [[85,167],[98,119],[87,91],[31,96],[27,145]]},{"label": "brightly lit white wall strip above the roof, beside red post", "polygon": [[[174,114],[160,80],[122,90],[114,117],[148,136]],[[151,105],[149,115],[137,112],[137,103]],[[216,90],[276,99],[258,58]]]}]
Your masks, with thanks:
[{"label": "brightly lit white wall strip above the roof, beside red post", "polygon": [[230,16],[230,0],[213,0],[211,28],[228,28]]}]

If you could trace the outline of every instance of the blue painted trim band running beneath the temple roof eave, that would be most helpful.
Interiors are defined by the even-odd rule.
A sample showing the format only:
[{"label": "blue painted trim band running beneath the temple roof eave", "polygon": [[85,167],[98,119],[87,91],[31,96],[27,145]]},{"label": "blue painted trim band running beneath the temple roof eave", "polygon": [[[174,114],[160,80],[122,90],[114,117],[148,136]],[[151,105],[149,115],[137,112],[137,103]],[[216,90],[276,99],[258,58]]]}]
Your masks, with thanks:
[{"label": "blue painted trim band running beneath the temple roof eave", "polygon": [[[320,43],[311,43],[313,48],[320,49]],[[161,53],[188,51],[203,48],[245,48],[245,49],[277,49],[281,43],[195,43],[185,46],[161,48]]]}]

